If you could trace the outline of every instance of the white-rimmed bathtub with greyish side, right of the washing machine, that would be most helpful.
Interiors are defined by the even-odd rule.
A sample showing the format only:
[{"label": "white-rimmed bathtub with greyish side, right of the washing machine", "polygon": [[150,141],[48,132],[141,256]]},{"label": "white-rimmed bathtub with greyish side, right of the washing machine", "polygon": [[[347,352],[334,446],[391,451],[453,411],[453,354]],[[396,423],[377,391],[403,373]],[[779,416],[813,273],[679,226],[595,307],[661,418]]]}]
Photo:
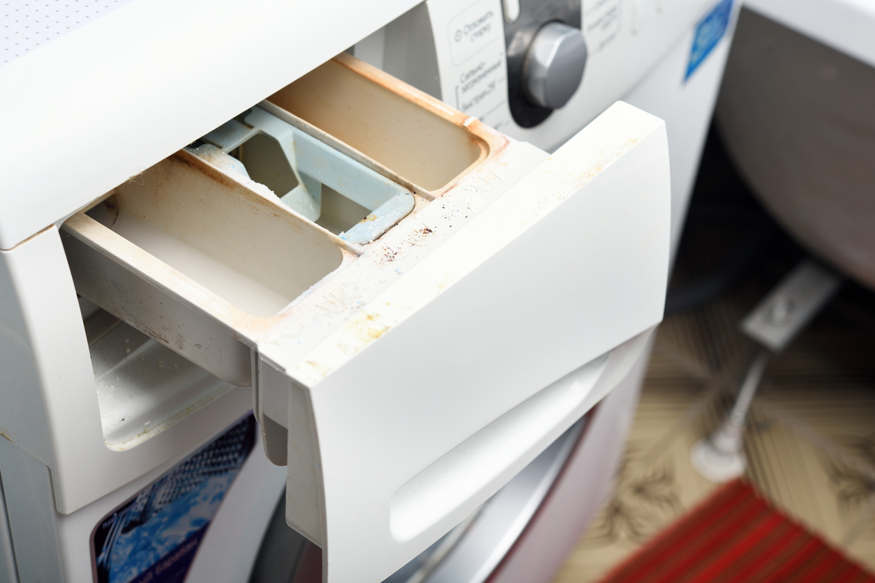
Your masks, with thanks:
[{"label": "white-rimmed bathtub with greyish side, right of the washing machine", "polygon": [[803,246],[875,288],[875,7],[746,3],[718,122],[740,172]]}]

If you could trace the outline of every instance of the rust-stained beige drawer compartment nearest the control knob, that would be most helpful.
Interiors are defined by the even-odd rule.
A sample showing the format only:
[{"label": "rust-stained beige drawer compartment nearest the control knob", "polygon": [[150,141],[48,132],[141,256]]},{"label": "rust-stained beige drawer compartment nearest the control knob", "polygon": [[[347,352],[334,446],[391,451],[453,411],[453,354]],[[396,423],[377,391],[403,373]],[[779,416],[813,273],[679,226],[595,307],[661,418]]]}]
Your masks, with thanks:
[{"label": "rust-stained beige drawer compartment nearest the control knob", "polygon": [[267,101],[367,156],[417,193],[444,191],[506,143],[474,118],[346,53]]}]

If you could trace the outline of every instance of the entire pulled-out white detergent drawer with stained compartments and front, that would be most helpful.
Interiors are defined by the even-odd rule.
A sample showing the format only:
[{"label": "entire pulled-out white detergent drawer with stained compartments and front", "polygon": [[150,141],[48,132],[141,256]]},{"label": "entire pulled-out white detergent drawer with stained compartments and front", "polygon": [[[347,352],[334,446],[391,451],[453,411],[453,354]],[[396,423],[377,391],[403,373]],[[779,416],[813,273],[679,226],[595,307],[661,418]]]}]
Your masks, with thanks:
[{"label": "entire pulled-out white detergent drawer with stained compartments and front", "polygon": [[[548,156],[346,55],[256,110],[294,131],[250,112],[69,219],[73,281],[252,385],[325,580],[382,580],[610,392],[662,319],[664,125],[617,103]],[[244,134],[284,153],[250,163],[266,142]],[[358,170],[319,174],[308,149]],[[230,155],[293,177],[267,188]],[[367,203],[360,180],[390,190]],[[369,214],[328,225],[338,192]]]}]

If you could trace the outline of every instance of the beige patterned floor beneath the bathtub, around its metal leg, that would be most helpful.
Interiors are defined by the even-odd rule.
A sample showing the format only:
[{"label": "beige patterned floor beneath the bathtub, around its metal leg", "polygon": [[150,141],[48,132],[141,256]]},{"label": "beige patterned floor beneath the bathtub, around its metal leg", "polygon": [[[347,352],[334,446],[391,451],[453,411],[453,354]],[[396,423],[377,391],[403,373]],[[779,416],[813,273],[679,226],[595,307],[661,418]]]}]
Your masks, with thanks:
[{"label": "beige patterned floor beneath the bathtub, around its metal leg", "polygon": [[[674,283],[732,248],[706,223],[698,235],[688,223]],[[779,234],[762,254],[732,291],[662,323],[613,499],[554,583],[600,580],[716,487],[690,447],[723,419],[756,350],[739,321],[803,253]],[[746,478],[875,573],[875,294],[845,284],[772,357],[748,426]]]}]

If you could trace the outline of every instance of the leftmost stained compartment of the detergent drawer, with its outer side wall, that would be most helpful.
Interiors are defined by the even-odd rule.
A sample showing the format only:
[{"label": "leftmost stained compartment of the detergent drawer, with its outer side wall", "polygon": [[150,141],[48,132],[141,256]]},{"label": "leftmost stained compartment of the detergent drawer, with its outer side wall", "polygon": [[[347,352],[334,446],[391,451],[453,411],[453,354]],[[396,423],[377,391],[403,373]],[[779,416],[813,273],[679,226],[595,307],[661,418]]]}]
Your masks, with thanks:
[{"label": "leftmost stained compartment of the detergent drawer, with its outer side wall", "polygon": [[234,385],[258,330],[351,246],[182,151],[63,227],[76,291]]}]

